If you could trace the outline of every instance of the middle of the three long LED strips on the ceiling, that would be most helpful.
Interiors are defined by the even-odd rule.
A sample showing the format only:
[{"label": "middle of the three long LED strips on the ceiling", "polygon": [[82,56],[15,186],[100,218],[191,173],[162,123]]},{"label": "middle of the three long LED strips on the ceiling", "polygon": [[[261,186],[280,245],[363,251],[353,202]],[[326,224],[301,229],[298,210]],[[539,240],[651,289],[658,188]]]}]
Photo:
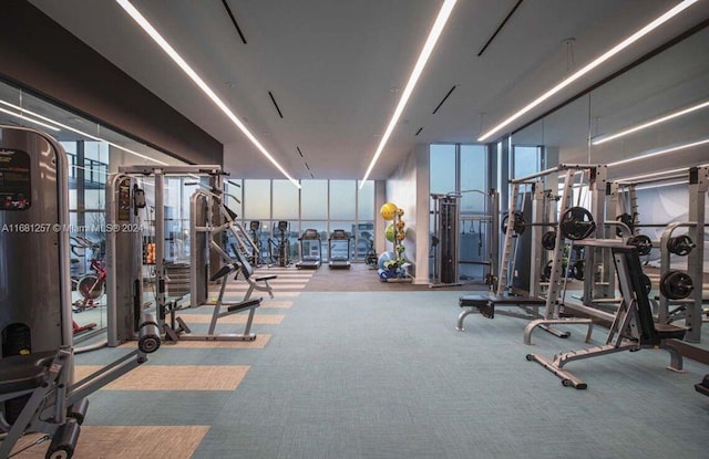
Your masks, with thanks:
[{"label": "middle of the three long LED strips on the ceiling", "polygon": [[443,2],[443,6],[441,7],[441,11],[439,11],[439,15],[438,18],[435,18],[435,22],[431,28],[431,32],[429,32],[429,38],[425,40],[425,43],[423,44],[421,54],[419,54],[419,60],[417,61],[417,64],[413,66],[411,76],[409,76],[409,82],[407,83],[407,86],[401,93],[401,98],[399,98],[399,104],[397,105],[397,108],[394,109],[394,113],[391,116],[389,126],[387,126],[387,131],[384,131],[384,135],[381,136],[379,146],[377,147],[377,150],[374,153],[374,157],[372,158],[371,163],[369,163],[369,167],[364,173],[364,177],[362,177],[360,189],[362,188],[364,181],[367,181],[367,179],[369,178],[369,175],[374,168],[377,160],[381,156],[381,153],[384,149],[387,142],[389,140],[389,136],[391,136],[391,133],[397,126],[397,123],[399,122],[399,118],[403,113],[403,108],[407,106],[407,103],[409,102],[409,97],[411,97],[411,93],[413,92],[413,88],[417,85],[419,77],[421,76],[421,72],[423,72],[423,67],[425,67],[425,63],[431,56],[431,53],[433,52],[433,48],[435,48],[435,43],[441,36],[441,32],[443,32],[443,28],[445,27],[445,23],[448,22],[448,19],[451,15],[451,11],[453,11],[453,7],[455,7],[456,2],[458,0],[445,0]]}]

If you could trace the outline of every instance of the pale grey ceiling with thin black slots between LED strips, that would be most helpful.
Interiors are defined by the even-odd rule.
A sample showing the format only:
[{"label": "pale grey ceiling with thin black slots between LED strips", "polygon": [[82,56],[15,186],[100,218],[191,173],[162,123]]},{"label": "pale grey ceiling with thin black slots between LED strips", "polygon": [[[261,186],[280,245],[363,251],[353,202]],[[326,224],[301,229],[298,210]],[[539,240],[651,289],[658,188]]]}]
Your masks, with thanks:
[{"label": "pale grey ceiling with thin black slots between LED strips", "polygon": [[[222,142],[225,166],[233,177],[280,178],[114,1],[31,2]],[[459,0],[371,178],[387,178],[415,144],[475,142],[481,129],[499,123],[677,0],[526,0],[485,53],[477,56],[516,2]],[[133,3],[291,175],[310,178],[312,173],[320,179],[356,179],[364,174],[395,107],[397,88],[405,85],[441,1],[228,0],[247,44],[239,39],[220,0]],[[510,129],[707,18],[709,1],[703,0]],[[706,35],[693,49],[699,50],[698,54],[687,58],[707,62]],[[565,44],[568,38],[574,38],[571,48]],[[692,75],[700,93],[693,97],[709,95],[707,74],[702,70]],[[637,83],[629,84],[637,87]],[[453,86],[451,96],[433,115]],[[268,92],[278,102],[284,118],[278,116]],[[605,97],[617,102],[619,95],[626,94],[627,87],[618,87],[607,91]],[[627,103],[606,104],[606,112],[592,118],[598,118],[594,122],[598,128],[603,119],[603,129],[613,129],[631,124],[634,118],[672,108],[661,97],[656,97],[655,104],[648,104],[648,98],[649,95],[636,94],[637,109]],[[558,118],[565,117],[557,114],[557,122],[545,123],[542,140],[568,144],[566,138],[577,136],[578,124],[587,135],[593,109],[583,98],[574,104],[579,104],[575,117],[561,123]],[[573,111],[572,106],[567,109]],[[706,122],[702,129],[703,126]],[[528,133],[534,129],[540,131],[538,126],[531,126]],[[583,136],[580,146],[586,147]],[[587,156],[584,148],[576,144],[562,147],[563,156],[577,160]],[[596,160],[636,153],[629,147],[604,152],[610,159],[599,156]]]}]

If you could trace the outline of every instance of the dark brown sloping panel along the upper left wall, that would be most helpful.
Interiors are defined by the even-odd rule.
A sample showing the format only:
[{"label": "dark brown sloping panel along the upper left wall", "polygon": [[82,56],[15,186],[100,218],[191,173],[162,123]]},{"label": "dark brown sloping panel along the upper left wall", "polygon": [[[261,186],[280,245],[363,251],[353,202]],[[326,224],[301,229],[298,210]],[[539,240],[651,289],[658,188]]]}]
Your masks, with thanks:
[{"label": "dark brown sloping panel along the upper left wall", "polygon": [[223,163],[219,142],[24,0],[0,4],[0,74],[179,159]]}]

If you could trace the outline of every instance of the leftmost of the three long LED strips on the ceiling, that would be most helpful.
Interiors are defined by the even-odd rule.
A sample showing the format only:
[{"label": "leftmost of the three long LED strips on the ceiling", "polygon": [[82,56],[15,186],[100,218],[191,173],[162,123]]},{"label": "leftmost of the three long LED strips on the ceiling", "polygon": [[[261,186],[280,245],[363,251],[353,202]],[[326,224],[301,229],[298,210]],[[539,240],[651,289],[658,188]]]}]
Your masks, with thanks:
[{"label": "leftmost of the three long LED strips on the ceiling", "polygon": [[125,10],[126,13],[133,18],[135,22],[162,48],[162,50],[182,69],[183,72],[212,100],[212,102],[224,112],[224,114],[238,127],[244,135],[251,140],[251,144],[258,148],[258,150],[274,165],[280,173],[290,180],[292,185],[297,188],[300,188],[300,184],[298,180],[292,178],[286,169],[282,168],[280,164],[271,156],[270,153],[261,145],[260,142],[254,134],[248,131],[248,128],[242,123],[242,121],[232,112],[229,107],[215,94],[215,92],[202,80],[202,77],[195,72],[187,62],[175,51],[175,49],[167,43],[167,41],[157,32],[157,30],[141,14],[141,12],[129,1],[129,0],[115,0],[116,3],[121,6]]}]

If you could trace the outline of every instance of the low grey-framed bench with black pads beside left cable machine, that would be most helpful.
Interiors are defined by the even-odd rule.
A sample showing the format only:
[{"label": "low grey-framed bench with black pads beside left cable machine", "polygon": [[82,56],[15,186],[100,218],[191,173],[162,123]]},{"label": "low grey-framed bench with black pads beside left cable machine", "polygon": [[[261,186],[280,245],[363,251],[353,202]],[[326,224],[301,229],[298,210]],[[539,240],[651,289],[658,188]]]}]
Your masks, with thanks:
[{"label": "low grey-framed bench with black pads beside left cable machine", "polygon": [[[209,281],[216,282],[222,281],[222,286],[219,289],[219,295],[217,296],[217,301],[214,303],[214,311],[212,312],[212,321],[209,322],[209,330],[206,334],[196,334],[192,333],[192,330],[187,325],[187,323],[182,317],[176,317],[175,313],[179,311],[179,307],[169,307],[167,312],[169,313],[169,324],[164,323],[163,330],[165,332],[165,337],[177,342],[179,340],[185,341],[254,341],[256,340],[256,334],[251,333],[251,324],[254,323],[254,314],[256,313],[256,309],[260,306],[263,299],[250,299],[247,298],[243,301],[236,303],[227,303],[224,301],[224,294],[226,292],[227,277],[243,269],[239,263],[227,263],[222,267]],[[250,296],[250,293],[249,293]],[[226,306],[226,311],[222,311],[222,307]],[[239,312],[248,311],[248,317],[246,319],[246,325],[244,325],[243,333],[216,333],[217,322],[220,317],[225,317],[227,315],[237,314]],[[177,326],[175,325],[177,323]]]}]

